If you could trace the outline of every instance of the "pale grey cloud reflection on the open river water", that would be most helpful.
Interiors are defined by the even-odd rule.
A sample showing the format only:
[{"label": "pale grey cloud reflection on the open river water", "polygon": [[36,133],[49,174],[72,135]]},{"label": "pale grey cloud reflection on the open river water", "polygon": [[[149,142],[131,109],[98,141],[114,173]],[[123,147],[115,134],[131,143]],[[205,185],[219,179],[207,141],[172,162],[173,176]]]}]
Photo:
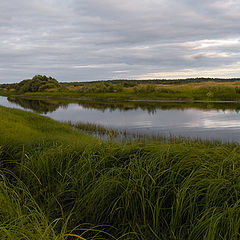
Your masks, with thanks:
[{"label": "pale grey cloud reflection on the open river water", "polygon": [[[181,127],[216,128],[217,126],[228,126],[229,118],[238,119],[238,114],[233,111],[157,110],[155,114],[149,114],[141,109],[128,111],[106,109],[102,112],[101,110],[84,108],[77,104],[69,104],[67,109],[60,108],[47,115],[59,121],[92,122],[108,127],[152,127],[154,129],[171,130]],[[229,123],[229,127],[230,125],[233,126],[233,123]],[[235,123],[235,125],[237,124]]]}]

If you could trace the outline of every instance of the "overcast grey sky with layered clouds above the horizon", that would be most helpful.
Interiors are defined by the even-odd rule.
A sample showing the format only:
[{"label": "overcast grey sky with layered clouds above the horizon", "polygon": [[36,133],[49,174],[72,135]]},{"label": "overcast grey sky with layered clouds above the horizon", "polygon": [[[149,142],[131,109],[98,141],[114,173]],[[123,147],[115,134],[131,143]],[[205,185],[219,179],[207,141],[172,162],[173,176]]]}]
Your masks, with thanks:
[{"label": "overcast grey sky with layered clouds above the horizon", "polygon": [[0,0],[0,83],[240,77],[240,0]]}]

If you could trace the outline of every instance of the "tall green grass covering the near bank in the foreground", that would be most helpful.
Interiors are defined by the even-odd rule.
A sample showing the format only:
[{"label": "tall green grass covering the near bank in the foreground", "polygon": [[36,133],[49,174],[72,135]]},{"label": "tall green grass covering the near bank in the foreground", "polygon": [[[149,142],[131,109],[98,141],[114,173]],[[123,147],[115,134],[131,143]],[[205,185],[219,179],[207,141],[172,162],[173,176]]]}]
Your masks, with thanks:
[{"label": "tall green grass covering the near bank in the foreground", "polygon": [[0,126],[0,239],[240,237],[237,144],[101,142],[2,107]]}]

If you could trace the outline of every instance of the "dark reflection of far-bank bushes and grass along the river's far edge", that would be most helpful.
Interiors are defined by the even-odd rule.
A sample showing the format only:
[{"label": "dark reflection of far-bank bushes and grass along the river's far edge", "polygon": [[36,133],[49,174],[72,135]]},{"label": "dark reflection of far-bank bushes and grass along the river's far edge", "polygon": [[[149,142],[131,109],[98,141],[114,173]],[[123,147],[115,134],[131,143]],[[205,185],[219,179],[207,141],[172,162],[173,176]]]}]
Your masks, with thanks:
[{"label": "dark reflection of far-bank bushes and grass along the river's far edge", "polygon": [[[1,104],[0,97],[0,104]],[[201,109],[201,110],[220,110],[220,111],[240,111],[238,103],[191,103],[191,102],[110,102],[110,101],[74,101],[74,100],[57,100],[57,99],[26,99],[20,97],[8,97],[8,102],[16,104],[24,109],[29,109],[37,113],[47,114],[54,112],[59,108],[67,109],[72,103],[77,104],[85,109],[99,110],[102,112],[108,111],[132,111],[140,109],[147,111],[148,114],[155,114],[158,109],[161,110],[186,110],[186,109]]]}]

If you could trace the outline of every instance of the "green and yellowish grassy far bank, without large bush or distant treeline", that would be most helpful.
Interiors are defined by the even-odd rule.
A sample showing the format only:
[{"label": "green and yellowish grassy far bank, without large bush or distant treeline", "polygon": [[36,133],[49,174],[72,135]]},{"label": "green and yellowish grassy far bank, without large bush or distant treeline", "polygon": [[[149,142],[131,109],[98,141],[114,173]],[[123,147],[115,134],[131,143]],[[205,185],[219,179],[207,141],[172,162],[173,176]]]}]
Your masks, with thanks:
[{"label": "green and yellowish grassy far bank, without large bush or distant treeline", "polygon": [[[106,86],[105,86],[106,85]],[[1,95],[18,95],[11,91],[1,90]],[[23,96],[47,96],[60,98],[88,98],[115,100],[240,100],[239,82],[202,82],[188,84],[136,84],[125,87],[122,84],[95,83],[83,86],[65,86],[60,90],[50,89],[43,92],[21,93]]]}]

